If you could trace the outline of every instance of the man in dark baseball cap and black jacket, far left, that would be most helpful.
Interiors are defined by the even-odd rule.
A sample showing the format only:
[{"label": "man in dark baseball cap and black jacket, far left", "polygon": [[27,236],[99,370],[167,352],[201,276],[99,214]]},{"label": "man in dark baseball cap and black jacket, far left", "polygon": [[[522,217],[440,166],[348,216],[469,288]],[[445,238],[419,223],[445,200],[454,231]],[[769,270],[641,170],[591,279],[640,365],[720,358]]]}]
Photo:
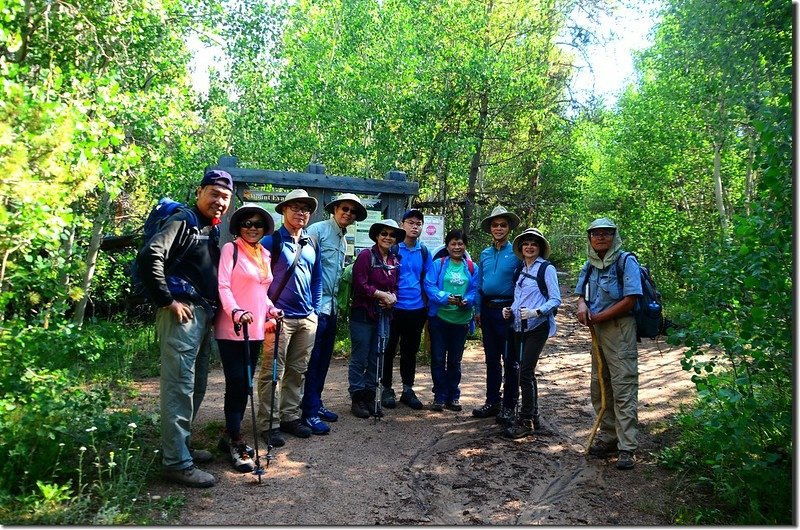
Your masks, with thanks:
[{"label": "man in dark baseball cap and black jacket, far left", "polygon": [[161,461],[167,480],[192,487],[216,479],[195,467],[211,460],[190,449],[192,420],[206,393],[211,323],[219,305],[219,228],[233,195],[225,171],[206,172],[194,207],[169,217],[136,256],[156,311],[161,349]]}]

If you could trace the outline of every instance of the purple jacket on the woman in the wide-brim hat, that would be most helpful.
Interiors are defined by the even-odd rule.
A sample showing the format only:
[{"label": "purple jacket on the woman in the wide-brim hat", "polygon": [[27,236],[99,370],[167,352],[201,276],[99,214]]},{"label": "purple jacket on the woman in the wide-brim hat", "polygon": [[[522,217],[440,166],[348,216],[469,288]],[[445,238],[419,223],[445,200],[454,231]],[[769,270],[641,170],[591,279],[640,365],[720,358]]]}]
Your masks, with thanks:
[{"label": "purple jacket on the woman in the wide-brim hat", "polygon": [[[370,256],[374,253],[373,256]],[[372,266],[373,260],[376,266]],[[389,254],[386,263],[380,257],[378,246],[362,250],[353,264],[353,309],[363,307],[371,320],[377,320],[375,314],[377,300],[373,298],[375,291],[386,291],[397,294],[397,282],[400,276],[400,260],[396,254]]]}]

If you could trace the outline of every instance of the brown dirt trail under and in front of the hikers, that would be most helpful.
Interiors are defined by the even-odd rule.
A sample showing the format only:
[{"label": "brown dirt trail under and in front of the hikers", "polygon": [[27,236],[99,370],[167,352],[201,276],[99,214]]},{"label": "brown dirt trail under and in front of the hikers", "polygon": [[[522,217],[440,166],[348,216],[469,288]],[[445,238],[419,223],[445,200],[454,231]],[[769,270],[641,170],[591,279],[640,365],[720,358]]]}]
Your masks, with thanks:
[{"label": "brown dirt trail under and in front of the hikers", "polygon": [[[334,359],[323,397],[339,421],[326,436],[287,435],[286,445],[273,451],[261,485],[220,456],[204,466],[219,480],[213,488],[158,482],[150,493],[185,492],[182,525],[669,524],[674,494],[652,453],[663,445],[664,420],[691,397],[681,352],[663,341],[639,346],[637,467],[623,472],[615,467],[616,457],[587,459],[583,444],[594,421],[590,338],[577,324],[574,306],[574,297],[564,293],[558,332],[537,367],[541,413],[552,436],[506,440],[494,419],[472,417],[484,398],[479,342],[468,342],[464,355],[462,412],[414,411],[398,404],[378,423],[350,414],[347,361]],[[417,372],[415,389],[429,403],[430,368],[418,366]],[[152,406],[158,380],[139,386],[138,404]],[[195,424],[198,446],[216,445],[223,392],[217,369]],[[249,417],[248,410],[243,425],[248,439]]]}]

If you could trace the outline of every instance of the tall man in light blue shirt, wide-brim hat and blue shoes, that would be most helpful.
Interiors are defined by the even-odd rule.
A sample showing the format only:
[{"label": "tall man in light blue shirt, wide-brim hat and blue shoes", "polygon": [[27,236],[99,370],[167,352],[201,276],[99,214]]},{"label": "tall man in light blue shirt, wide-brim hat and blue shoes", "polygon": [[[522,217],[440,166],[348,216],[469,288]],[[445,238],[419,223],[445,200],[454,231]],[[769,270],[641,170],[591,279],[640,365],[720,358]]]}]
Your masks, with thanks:
[{"label": "tall man in light blue shirt, wide-brim hat and blue shoes", "polygon": [[347,254],[347,227],[356,221],[367,218],[367,209],[354,193],[342,193],[325,205],[325,211],[332,214],[330,219],[319,221],[308,228],[308,234],[319,241],[322,253],[322,301],[320,303],[317,333],[314,348],[308,361],[305,390],[300,408],[303,423],[313,434],[327,434],[331,428],[326,422],[334,422],[339,415],[327,409],[322,403],[322,390],[333,356],[336,342],[336,326],[339,308],[336,295],[339,280],[344,270]]}]

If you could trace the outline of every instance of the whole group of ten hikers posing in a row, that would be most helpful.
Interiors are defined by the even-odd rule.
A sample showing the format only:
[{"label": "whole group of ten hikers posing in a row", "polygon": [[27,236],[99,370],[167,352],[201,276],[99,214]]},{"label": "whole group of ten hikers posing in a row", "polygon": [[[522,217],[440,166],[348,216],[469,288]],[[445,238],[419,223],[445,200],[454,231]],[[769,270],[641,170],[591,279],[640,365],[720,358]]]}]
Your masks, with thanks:
[{"label": "whole group of ten hikers posing in a row", "polygon": [[[170,216],[136,257],[145,292],[158,308],[163,475],[194,487],[216,483],[212,474],[196,467],[211,461],[211,452],[191,446],[212,340],[225,375],[225,432],[218,448],[235,469],[256,469],[256,451],[241,430],[248,397],[254,400],[254,377],[254,423],[268,448],[283,446],[284,434],[308,438],[330,432],[338,415],[325,407],[322,393],[336,337],[347,228],[367,217],[357,195],[342,193],[324,206],[330,217],[309,226],[317,200],[295,189],[275,206],[282,216],[277,228],[262,206],[242,204],[230,216],[233,241],[219,248],[217,225],[233,193],[229,173],[207,171],[191,211]],[[461,411],[461,359],[470,326],[477,325],[485,351],[486,398],[472,415],[494,417],[512,439],[552,434],[539,413],[535,375],[542,349],[556,333],[561,304],[544,234],[527,228],[511,240],[520,219],[495,207],[480,224],[492,244],[476,263],[466,251],[463,231],[447,232],[444,249],[432,255],[419,240],[423,212],[410,209],[400,221],[373,223],[369,238],[374,245],[352,265],[351,413],[381,417],[398,399],[411,409],[424,408],[414,383],[426,322],[433,380],[429,408]],[[605,383],[610,404],[589,452],[601,457],[616,452],[617,467],[631,469],[638,393],[631,310],[642,287],[636,260],[625,260],[622,274],[616,270],[621,246],[609,219],[589,225],[588,262],[575,294],[578,320],[593,328],[603,352],[600,375],[592,360],[592,403],[599,411],[600,384]],[[392,378],[398,349],[399,398]],[[264,362],[257,370],[259,357]]]}]

